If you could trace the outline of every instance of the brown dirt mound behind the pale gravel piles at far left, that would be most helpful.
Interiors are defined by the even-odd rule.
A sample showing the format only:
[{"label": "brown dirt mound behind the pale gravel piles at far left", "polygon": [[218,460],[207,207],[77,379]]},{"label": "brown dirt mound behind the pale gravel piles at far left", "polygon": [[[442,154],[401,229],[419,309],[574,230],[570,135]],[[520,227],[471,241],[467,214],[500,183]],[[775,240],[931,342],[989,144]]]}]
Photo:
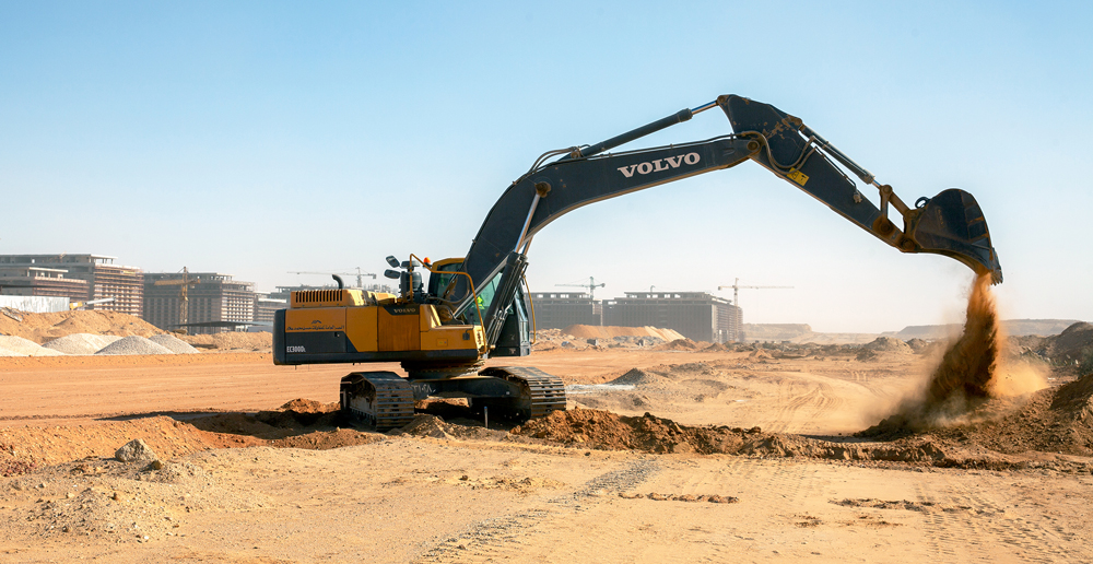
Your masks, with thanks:
[{"label": "brown dirt mound behind the pale gravel piles at far left", "polygon": [[163,332],[139,317],[117,312],[20,313],[20,317],[22,321],[0,315],[0,334],[23,337],[36,343],[44,343],[73,333],[151,337]]}]

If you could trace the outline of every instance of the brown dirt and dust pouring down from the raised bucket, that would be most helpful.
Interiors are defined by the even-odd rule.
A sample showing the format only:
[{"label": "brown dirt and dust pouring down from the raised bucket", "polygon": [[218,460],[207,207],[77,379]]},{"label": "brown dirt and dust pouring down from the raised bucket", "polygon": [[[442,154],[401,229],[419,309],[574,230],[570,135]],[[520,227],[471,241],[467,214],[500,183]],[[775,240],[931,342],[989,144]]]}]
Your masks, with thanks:
[{"label": "brown dirt and dust pouring down from the raised bucket", "polygon": [[929,379],[904,398],[895,413],[859,435],[905,434],[968,421],[969,412],[987,399],[1018,397],[1045,388],[1047,380],[1035,367],[1003,361],[1003,342],[990,275],[976,277],[967,299],[964,330],[945,350]]}]

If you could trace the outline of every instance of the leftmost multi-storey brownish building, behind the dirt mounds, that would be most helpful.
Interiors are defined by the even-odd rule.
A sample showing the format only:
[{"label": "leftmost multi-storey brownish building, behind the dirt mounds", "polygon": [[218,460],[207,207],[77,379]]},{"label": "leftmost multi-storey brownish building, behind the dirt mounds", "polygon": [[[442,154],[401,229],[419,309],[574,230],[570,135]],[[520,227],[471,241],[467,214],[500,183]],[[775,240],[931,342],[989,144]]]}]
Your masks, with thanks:
[{"label": "leftmost multi-storey brownish building, behind the dirt mounds", "polygon": [[89,308],[140,317],[144,305],[143,272],[137,267],[115,265],[115,260],[117,257],[105,255],[0,255],[0,293],[68,297],[73,302],[113,297],[113,302]]}]

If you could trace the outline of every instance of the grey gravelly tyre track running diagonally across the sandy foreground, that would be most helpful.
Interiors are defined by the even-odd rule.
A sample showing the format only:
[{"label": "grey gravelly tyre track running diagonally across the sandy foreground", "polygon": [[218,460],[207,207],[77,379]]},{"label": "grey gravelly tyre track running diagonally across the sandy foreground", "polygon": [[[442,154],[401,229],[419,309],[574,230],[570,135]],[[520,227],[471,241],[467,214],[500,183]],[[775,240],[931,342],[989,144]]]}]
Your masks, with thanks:
[{"label": "grey gravelly tyre track running diagonally across the sandy foreground", "polygon": [[[585,482],[576,491],[543,501],[540,505],[513,515],[491,517],[475,522],[430,549],[415,563],[491,562],[507,560],[524,553],[528,539],[550,530],[543,525],[551,520],[567,519],[584,513],[606,495],[633,490],[659,472],[655,460],[634,460],[625,467],[600,474]],[[603,531],[598,531],[602,533]],[[612,534],[623,531],[613,531]],[[583,542],[597,542],[599,537],[584,538]]]}]

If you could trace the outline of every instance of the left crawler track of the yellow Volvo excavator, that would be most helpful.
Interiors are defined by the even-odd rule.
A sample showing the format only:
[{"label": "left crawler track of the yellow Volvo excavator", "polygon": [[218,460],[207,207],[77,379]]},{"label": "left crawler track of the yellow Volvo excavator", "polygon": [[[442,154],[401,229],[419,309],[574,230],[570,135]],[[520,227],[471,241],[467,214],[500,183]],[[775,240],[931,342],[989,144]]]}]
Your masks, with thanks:
[{"label": "left crawler track of the yellow Volvo excavator", "polygon": [[413,389],[392,372],[355,372],[342,378],[341,408],[376,431],[401,427],[413,421]]}]

